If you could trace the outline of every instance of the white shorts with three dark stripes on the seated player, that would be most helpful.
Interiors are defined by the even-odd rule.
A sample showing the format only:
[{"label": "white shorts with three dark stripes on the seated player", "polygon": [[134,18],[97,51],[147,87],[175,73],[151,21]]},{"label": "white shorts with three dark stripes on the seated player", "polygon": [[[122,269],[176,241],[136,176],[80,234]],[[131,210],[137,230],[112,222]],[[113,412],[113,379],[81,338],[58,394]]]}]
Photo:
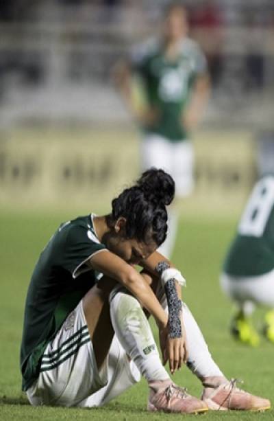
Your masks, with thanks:
[{"label": "white shorts with three dark stripes on the seated player", "polygon": [[27,390],[32,405],[101,406],[140,380],[114,336],[98,371],[82,301],[47,345],[38,380]]}]

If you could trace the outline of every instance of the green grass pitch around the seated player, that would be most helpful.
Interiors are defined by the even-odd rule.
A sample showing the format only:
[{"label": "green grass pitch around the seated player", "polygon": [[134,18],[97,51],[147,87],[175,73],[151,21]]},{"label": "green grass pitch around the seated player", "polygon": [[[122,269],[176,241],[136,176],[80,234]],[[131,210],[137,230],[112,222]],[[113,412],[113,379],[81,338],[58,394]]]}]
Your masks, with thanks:
[{"label": "green grass pitch around the seated player", "polygon": [[[55,227],[71,215],[0,214],[1,295],[0,295],[0,420],[164,420],[180,416],[147,413],[147,387],[142,380],[123,396],[101,409],[64,409],[31,407],[21,393],[18,354],[23,323],[23,306],[29,276],[40,250]],[[232,238],[234,218],[209,218],[198,214],[182,216],[173,261],[188,282],[184,299],[192,309],[206,336],[214,359],[228,377],[245,380],[249,391],[273,398],[273,346],[262,339],[257,349],[235,343],[227,326],[232,306],[219,288],[219,271]],[[258,312],[258,323],[262,312]],[[184,367],[175,374],[175,382],[199,396],[201,385]],[[274,418],[271,410],[259,415]],[[189,416],[193,417],[193,416]],[[255,420],[256,413],[210,412],[203,420]],[[188,418],[188,416],[184,416]]]}]

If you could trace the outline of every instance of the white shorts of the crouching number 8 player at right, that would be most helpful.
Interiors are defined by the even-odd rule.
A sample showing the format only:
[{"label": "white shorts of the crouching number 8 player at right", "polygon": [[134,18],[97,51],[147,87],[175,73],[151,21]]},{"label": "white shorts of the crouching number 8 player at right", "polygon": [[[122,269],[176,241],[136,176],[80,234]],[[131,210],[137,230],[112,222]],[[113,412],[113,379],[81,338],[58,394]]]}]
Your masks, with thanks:
[{"label": "white shorts of the crouching number 8 player at right", "polygon": [[274,307],[274,270],[248,277],[222,273],[220,283],[224,293],[238,304],[250,301],[259,306]]}]

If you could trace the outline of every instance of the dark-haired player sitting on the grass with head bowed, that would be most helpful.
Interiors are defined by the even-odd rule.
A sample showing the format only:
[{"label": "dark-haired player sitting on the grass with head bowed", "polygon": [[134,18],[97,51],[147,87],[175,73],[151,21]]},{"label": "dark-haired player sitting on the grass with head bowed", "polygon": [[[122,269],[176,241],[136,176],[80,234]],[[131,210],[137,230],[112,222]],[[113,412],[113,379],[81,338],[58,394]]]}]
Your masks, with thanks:
[{"label": "dark-haired player sitting on the grass with head bowed", "polygon": [[[49,240],[25,306],[21,370],[32,405],[104,405],[142,374],[149,411],[269,409],[214,363],[181,301],[184,278],[156,251],[174,192],[169,174],[152,168],[114,198],[110,214],[66,222]],[[145,313],[158,324],[164,364],[173,373],[186,362],[203,384],[201,400],[172,382]]]}]

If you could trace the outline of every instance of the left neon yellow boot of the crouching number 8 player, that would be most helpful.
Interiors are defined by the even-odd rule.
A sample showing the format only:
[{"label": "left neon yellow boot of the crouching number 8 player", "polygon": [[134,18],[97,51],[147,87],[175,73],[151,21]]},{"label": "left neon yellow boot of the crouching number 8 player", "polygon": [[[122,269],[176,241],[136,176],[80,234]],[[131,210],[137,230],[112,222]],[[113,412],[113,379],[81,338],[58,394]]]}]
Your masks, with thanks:
[{"label": "left neon yellow boot of the crouching number 8 player", "polygon": [[235,339],[246,345],[256,347],[260,343],[260,338],[253,328],[251,320],[245,317],[241,311],[233,317],[230,331]]}]

